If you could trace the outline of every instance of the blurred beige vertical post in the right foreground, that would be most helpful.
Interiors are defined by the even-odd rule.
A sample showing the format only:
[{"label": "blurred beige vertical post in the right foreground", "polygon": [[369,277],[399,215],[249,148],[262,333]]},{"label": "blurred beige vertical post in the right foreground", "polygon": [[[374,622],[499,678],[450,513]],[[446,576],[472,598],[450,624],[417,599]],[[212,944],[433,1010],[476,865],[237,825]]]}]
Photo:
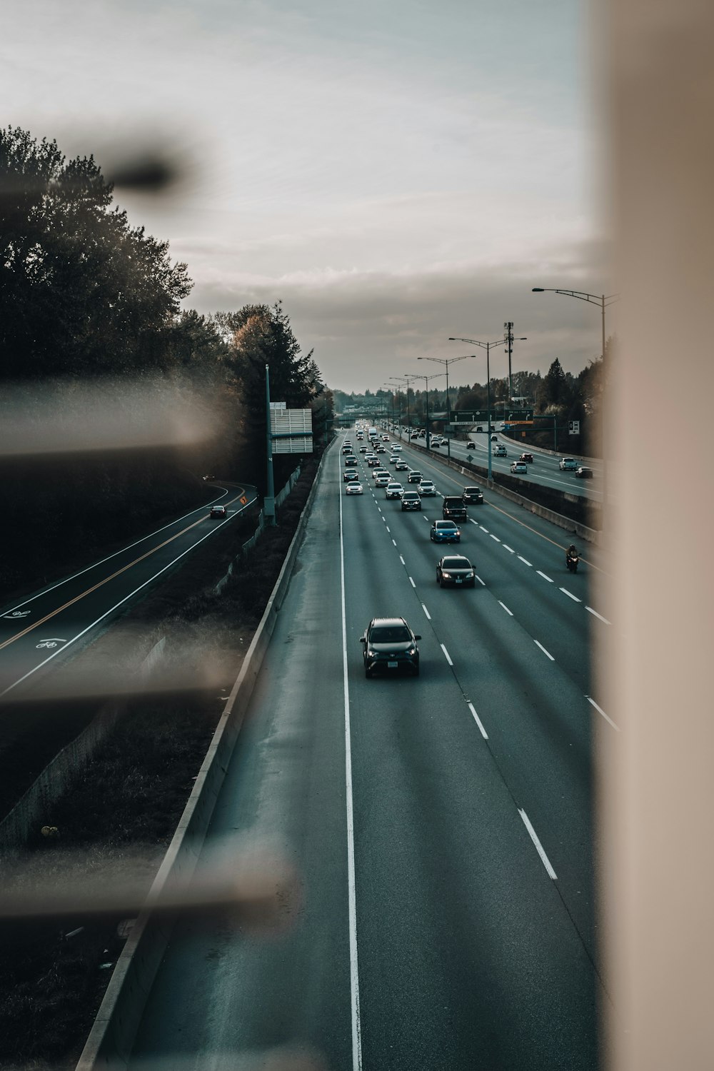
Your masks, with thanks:
[{"label": "blurred beige vertical post in the right foreground", "polygon": [[[598,660],[614,670],[601,688],[623,726],[598,731],[608,1062],[703,1071],[714,1067],[714,364],[696,332],[672,341],[693,335],[714,284],[714,5],[610,0],[607,17],[623,293],[613,545],[637,547],[618,559],[619,627]],[[669,428],[686,428],[686,462],[674,448],[638,466]]]}]

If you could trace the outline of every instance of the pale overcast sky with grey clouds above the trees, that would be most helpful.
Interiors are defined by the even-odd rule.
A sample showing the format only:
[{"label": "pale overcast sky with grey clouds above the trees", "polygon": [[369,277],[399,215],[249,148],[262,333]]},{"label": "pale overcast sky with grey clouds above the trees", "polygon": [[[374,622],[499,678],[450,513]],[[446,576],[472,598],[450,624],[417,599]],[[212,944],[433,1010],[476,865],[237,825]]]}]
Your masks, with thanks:
[{"label": "pale overcast sky with grey clouds above the trees", "polygon": [[531,288],[614,289],[589,17],[586,0],[4,0],[0,124],[106,171],[158,146],[176,187],[117,200],[187,263],[186,307],[280,299],[330,387],[474,349],[450,381],[484,382],[485,352],[447,338],[506,320],[528,338],[514,371],[577,373],[598,310]]}]

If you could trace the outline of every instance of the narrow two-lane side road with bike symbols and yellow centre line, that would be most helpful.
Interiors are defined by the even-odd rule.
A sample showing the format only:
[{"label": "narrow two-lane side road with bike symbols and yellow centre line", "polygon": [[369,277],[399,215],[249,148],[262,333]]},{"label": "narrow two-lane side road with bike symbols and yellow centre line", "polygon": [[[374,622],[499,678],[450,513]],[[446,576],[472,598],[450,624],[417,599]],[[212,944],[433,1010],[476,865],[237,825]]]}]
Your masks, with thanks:
[{"label": "narrow two-lane side road with bike symbols and yellow centre line", "polygon": [[[65,657],[97,625],[106,625],[171,565],[255,501],[256,488],[217,486],[225,521],[209,518],[213,502],[136,540],[128,546],[0,608],[0,698],[28,687],[41,670]],[[243,501],[243,499],[245,501]]]}]

